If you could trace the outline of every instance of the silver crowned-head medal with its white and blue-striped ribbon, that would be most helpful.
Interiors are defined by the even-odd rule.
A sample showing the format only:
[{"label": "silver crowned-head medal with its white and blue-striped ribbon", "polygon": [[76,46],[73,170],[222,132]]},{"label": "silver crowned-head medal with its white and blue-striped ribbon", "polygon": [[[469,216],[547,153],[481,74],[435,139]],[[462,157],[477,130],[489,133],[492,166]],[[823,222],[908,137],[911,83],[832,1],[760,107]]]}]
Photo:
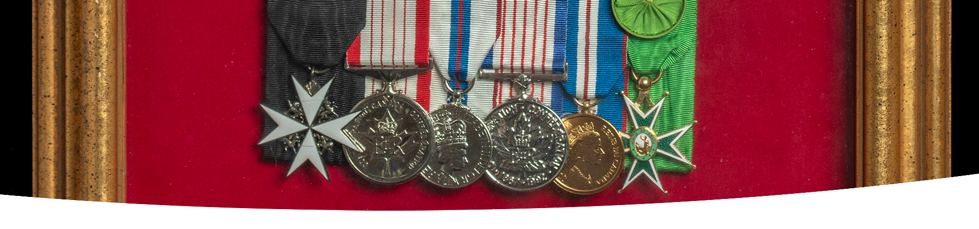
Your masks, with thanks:
[{"label": "silver crowned-head medal with its white and blue-striped ribbon", "polygon": [[[435,110],[430,116],[435,123],[436,151],[422,169],[422,177],[450,189],[478,180],[486,173],[492,156],[489,128],[482,118],[486,114],[474,115],[467,105],[484,104],[476,99],[479,96],[468,93],[476,88],[479,69],[496,40],[496,2],[466,2],[434,0],[431,3],[429,98],[433,102],[431,110]],[[438,82],[440,79],[442,82]],[[480,89],[491,86],[491,83],[479,84]],[[434,102],[446,98],[448,104],[436,107]]]}]

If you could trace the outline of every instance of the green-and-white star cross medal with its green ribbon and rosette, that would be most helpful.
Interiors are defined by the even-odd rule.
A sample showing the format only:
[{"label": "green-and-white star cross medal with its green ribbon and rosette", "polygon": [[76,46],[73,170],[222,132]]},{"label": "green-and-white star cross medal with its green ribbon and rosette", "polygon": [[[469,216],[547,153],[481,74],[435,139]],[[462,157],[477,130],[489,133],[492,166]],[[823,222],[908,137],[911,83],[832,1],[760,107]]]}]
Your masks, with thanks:
[{"label": "green-and-white star cross medal with its green ribbon and rosette", "polygon": [[[631,157],[619,193],[645,176],[667,195],[660,170],[689,172],[696,167],[690,146],[691,126],[697,123],[693,120],[696,0],[615,0],[613,8],[616,20],[629,32],[627,52],[633,85],[622,92],[631,120],[629,130],[622,135],[628,139]],[[663,94],[655,104],[650,98],[654,90]],[[674,95],[670,90],[679,93],[670,96]],[[630,94],[635,95],[635,102],[629,100]],[[672,99],[673,108],[663,114],[667,97]]]}]

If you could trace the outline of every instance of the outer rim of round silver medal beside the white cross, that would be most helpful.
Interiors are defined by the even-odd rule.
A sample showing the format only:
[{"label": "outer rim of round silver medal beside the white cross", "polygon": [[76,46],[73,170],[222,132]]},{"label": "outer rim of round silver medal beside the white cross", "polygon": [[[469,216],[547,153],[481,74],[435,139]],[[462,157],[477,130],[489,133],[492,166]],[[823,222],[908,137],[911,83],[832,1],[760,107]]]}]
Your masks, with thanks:
[{"label": "outer rim of round silver medal beside the white cross", "polygon": [[361,100],[360,102],[358,102],[357,105],[354,105],[353,106],[353,109],[350,109],[350,111],[360,111],[360,110],[363,109],[364,106],[366,106],[366,104],[368,103],[368,101],[373,101],[373,100],[378,100],[378,99],[383,100],[384,99],[384,96],[392,96],[392,100],[399,100],[400,99],[400,100],[404,100],[404,101],[410,102],[410,103],[407,103],[407,104],[409,104],[412,109],[418,111],[418,114],[421,114],[422,115],[422,119],[424,119],[424,121],[425,121],[424,124],[425,124],[425,126],[428,126],[428,129],[429,129],[429,134],[428,134],[429,135],[428,136],[429,148],[428,148],[428,152],[425,153],[425,156],[422,157],[423,158],[422,159],[422,162],[421,162],[422,165],[418,166],[417,169],[415,169],[414,171],[411,171],[408,175],[402,176],[400,178],[396,178],[396,179],[378,179],[376,177],[371,177],[368,174],[364,173],[362,170],[360,170],[359,167],[357,167],[355,165],[355,163],[353,162],[353,160],[350,159],[350,152],[351,151],[352,152],[356,152],[356,151],[354,151],[353,149],[350,149],[350,147],[344,146],[344,157],[347,158],[347,162],[350,163],[350,167],[353,168],[353,170],[357,171],[357,174],[359,174],[361,177],[363,177],[363,178],[365,178],[365,179],[367,179],[367,180],[369,180],[371,182],[377,183],[377,184],[396,185],[396,184],[401,184],[401,183],[407,182],[407,181],[415,178],[415,176],[418,176],[418,174],[420,174],[422,172],[422,169],[425,168],[425,165],[424,164],[428,164],[428,160],[430,160],[432,158],[431,157],[432,156],[432,153],[435,152],[435,132],[432,130],[432,117],[429,116],[428,113],[425,112],[425,108],[422,108],[422,106],[420,104],[418,104],[418,102],[416,102],[414,99],[411,99],[411,97],[407,97],[407,96],[404,96],[402,94],[388,94],[388,93],[374,94],[374,95],[368,96],[367,98],[364,98],[363,100]]}]

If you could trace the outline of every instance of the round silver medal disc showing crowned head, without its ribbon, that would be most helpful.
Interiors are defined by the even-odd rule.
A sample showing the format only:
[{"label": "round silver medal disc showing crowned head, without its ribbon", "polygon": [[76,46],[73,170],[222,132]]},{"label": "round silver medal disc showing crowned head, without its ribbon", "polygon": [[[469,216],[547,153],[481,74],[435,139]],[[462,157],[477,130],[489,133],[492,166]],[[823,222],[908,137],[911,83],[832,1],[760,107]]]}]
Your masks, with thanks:
[{"label": "round silver medal disc showing crowned head, without its ribbon", "polygon": [[422,176],[443,188],[462,188],[479,179],[489,166],[489,129],[461,104],[446,104],[432,112],[436,151]]}]

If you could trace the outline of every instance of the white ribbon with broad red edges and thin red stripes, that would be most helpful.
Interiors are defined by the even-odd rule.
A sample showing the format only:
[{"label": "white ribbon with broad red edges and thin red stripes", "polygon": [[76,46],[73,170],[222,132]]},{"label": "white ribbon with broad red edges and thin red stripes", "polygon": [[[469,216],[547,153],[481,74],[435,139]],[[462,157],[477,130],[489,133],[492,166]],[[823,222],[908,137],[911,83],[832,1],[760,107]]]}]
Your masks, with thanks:
[{"label": "white ribbon with broad red edges and thin red stripes", "polygon": [[[368,0],[366,24],[350,45],[347,62],[359,66],[428,67],[429,13],[429,0]],[[364,80],[365,96],[384,84],[372,77]],[[432,83],[431,71],[395,83],[396,90],[415,99],[426,111],[433,100],[432,89],[441,87]]]}]

